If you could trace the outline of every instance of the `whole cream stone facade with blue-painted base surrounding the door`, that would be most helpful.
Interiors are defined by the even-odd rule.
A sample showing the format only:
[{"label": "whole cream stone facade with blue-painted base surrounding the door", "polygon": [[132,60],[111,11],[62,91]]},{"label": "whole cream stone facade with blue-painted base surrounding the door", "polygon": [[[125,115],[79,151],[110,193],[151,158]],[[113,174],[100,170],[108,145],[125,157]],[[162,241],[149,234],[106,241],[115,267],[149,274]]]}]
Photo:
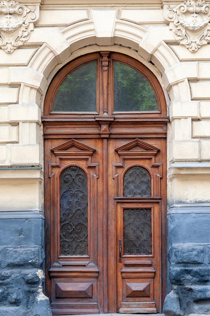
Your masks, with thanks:
[{"label": "whole cream stone facade with blue-painted base surrounding the door", "polygon": [[[44,98],[62,66],[100,50],[141,61],[163,88],[169,115],[164,311],[209,314],[209,3],[23,0],[15,4],[28,12],[21,25],[14,3],[0,5],[0,314],[51,314],[43,273]],[[179,10],[188,15],[180,18]]]}]

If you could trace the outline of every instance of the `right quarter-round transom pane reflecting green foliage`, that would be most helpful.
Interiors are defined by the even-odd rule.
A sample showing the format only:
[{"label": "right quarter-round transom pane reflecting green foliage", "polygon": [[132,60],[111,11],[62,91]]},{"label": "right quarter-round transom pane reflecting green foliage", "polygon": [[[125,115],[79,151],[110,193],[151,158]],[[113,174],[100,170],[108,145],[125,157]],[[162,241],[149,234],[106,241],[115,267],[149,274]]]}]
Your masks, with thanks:
[{"label": "right quarter-round transom pane reflecting green foliage", "polygon": [[137,70],[114,62],[114,111],[158,111],[155,92]]}]

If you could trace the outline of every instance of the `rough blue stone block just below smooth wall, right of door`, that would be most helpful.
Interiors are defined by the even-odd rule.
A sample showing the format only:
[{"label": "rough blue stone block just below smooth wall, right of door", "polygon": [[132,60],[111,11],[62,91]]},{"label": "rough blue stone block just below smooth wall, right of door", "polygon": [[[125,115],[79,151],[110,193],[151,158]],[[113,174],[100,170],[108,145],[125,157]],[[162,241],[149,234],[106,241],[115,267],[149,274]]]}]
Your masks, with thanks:
[{"label": "rough blue stone block just below smooth wall, right of door", "polygon": [[197,244],[176,244],[171,247],[173,264],[202,264],[204,261],[204,246]]}]

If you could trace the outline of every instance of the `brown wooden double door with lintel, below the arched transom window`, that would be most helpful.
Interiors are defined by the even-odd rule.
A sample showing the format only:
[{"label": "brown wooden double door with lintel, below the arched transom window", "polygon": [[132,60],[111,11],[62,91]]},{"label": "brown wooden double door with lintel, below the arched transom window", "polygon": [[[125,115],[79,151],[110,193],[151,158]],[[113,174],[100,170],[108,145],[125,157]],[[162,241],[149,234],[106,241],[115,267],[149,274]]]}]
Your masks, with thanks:
[{"label": "brown wooden double door with lintel, below the arched transom window", "polygon": [[161,312],[167,118],[55,114],[43,117],[53,314]]}]

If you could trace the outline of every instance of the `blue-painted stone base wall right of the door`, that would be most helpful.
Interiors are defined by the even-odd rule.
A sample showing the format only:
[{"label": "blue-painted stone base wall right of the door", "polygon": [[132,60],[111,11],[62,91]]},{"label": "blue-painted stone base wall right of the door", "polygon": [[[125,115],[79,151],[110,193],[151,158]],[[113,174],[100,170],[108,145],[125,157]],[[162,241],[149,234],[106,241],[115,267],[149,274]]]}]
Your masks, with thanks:
[{"label": "blue-painted stone base wall right of the door", "polygon": [[210,313],[210,208],[174,207],[168,214],[167,315]]}]

